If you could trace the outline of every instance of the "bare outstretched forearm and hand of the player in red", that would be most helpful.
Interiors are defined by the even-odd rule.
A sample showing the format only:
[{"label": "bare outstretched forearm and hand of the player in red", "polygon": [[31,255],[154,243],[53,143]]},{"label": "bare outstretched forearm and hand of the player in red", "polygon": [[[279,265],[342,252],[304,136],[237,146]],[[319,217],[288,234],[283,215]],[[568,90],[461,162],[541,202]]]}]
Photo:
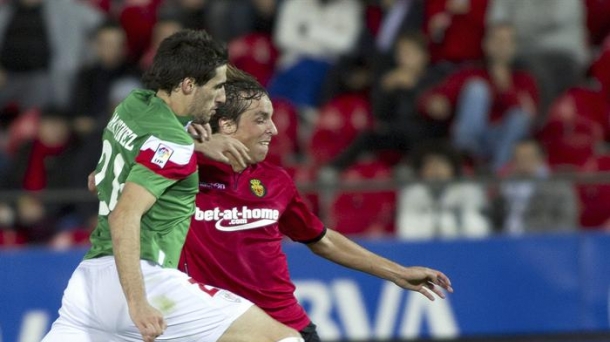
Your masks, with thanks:
[{"label": "bare outstretched forearm and hand of the player in red", "polygon": [[434,296],[445,298],[442,289],[453,292],[451,281],[442,272],[427,267],[405,267],[368,251],[342,234],[327,229],[326,235],[308,245],[317,255],[339,265],[362,271],[389,280],[411,291],[416,291],[430,300]]}]

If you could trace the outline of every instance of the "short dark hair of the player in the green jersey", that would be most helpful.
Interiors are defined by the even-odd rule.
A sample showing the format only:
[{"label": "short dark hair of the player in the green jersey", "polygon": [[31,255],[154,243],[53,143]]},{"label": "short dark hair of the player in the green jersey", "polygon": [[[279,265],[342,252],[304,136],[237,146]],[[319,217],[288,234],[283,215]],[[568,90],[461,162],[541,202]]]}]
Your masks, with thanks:
[{"label": "short dark hair of the player in the green jersey", "polygon": [[148,89],[171,92],[187,77],[204,85],[227,64],[226,47],[205,31],[181,30],[164,39],[142,82]]}]

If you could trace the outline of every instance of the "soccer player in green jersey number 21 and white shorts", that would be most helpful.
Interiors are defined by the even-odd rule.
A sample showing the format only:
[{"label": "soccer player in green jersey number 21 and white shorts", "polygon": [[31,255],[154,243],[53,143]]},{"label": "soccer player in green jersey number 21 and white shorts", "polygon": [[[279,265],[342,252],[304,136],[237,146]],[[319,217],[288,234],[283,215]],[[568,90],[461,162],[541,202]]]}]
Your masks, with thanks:
[{"label": "soccer player in green jersey number 21 and white shorts", "polygon": [[195,144],[187,132],[195,122],[209,133],[225,101],[226,64],[226,49],[205,32],[178,32],[144,76],[151,90],[133,91],[116,108],[95,170],[92,247],[44,342],[302,341],[248,300],[175,269],[198,189],[194,150],[219,160],[247,155],[237,141]]}]

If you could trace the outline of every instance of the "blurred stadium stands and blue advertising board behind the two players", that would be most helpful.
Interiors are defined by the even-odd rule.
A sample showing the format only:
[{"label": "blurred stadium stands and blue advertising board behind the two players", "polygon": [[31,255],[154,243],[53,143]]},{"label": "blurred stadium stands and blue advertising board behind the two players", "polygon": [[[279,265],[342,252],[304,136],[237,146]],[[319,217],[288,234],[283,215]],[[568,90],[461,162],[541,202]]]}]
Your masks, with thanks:
[{"label": "blurred stadium stands and blue advertising board behind the two players", "polygon": [[610,341],[610,0],[0,0],[0,341],[84,254],[114,106],[181,28],[273,99],[268,159],[426,303],[286,241],[325,341]]}]

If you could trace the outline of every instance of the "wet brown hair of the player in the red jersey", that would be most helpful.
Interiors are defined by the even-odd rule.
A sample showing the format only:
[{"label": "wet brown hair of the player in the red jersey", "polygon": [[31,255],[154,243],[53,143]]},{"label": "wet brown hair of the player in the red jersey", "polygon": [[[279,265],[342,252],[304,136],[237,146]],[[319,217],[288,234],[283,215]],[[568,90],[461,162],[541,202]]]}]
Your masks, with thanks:
[{"label": "wet brown hair of the player in the red jersey", "polygon": [[250,107],[252,101],[269,96],[265,87],[250,74],[236,67],[227,67],[227,83],[225,83],[226,101],[216,109],[216,114],[210,120],[213,133],[220,130],[220,120],[232,120],[239,125],[239,118]]}]

